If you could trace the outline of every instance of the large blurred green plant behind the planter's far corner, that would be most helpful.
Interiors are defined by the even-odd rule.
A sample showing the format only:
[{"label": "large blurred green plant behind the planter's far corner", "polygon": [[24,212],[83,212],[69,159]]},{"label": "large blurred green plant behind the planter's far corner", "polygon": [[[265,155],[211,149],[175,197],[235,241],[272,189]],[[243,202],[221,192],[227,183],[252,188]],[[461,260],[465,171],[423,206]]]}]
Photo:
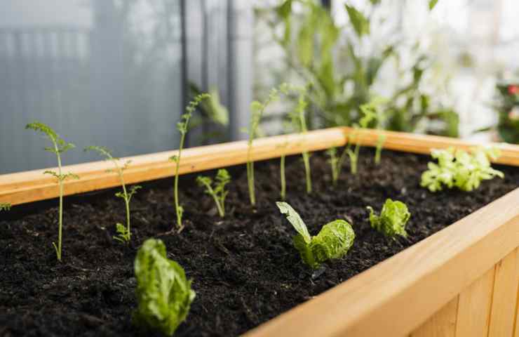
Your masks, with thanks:
[{"label": "large blurred green plant behind the planter's far corner", "polygon": [[[274,41],[285,53],[285,65],[293,70],[304,83],[311,84],[307,93],[312,112],[309,123],[322,126],[344,126],[358,123],[359,107],[369,103],[377,93],[373,86],[382,67],[392,67],[400,79],[390,89],[386,121],[381,128],[436,133],[457,136],[459,119],[454,110],[441,105],[441,100],[431,102],[422,88],[429,77],[422,76],[425,70],[433,71],[433,59],[419,48],[421,39],[410,44],[399,39],[403,32],[395,32],[391,13],[384,13],[382,1],[370,1],[366,13],[352,4],[346,4],[344,12],[349,16],[349,25],[338,26],[318,1],[285,0],[276,11],[260,11],[271,27]],[[431,8],[436,5],[430,2]],[[297,5],[297,6],[295,6]],[[383,14],[384,15],[384,14]],[[375,20],[379,20],[375,22]],[[380,27],[377,31],[370,29]],[[355,33],[350,34],[353,29]],[[385,33],[387,32],[387,33]],[[381,37],[382,35],[382,37]],[[386,36],[387,35],[387,36]],[[380,45],[379,41],[389,41]],[[366,43],[373,46],[366,55]],[[412,65],[400,62],[402,55],[410,58]],[[428,105],[422,105],[428,100]],[[435,123],[430,123],[435,121]]]}]

